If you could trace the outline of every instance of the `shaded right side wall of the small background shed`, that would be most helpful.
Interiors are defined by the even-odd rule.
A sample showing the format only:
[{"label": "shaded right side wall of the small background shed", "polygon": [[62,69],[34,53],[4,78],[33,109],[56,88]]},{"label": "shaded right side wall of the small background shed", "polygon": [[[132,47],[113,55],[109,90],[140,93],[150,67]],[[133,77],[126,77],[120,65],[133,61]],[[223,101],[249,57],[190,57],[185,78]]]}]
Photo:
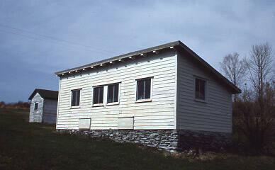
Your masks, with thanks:
[{"label": "shaded right side wall of the small background shed", "polygon": [[43,122],[56,123],[57,101],[44,99]]}]

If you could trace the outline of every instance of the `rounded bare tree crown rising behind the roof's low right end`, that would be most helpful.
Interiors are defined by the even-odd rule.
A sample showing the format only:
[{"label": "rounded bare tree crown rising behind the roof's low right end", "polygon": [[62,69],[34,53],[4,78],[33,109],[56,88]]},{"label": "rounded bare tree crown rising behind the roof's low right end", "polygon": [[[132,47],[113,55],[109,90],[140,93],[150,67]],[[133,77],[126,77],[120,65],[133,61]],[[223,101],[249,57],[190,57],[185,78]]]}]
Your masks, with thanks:
[{"label": "rounded bare tree crown rising behind the roof's low right end", "polygon": [[[245,78],[247,71],[245,60],[240,60],[240,55],[237,52],[223,57],[223,62],[220,62],[220,67],[223,69],[225,77],[227,77],[235,86],[241,86],[242,80]],[[237,96],[234,96],[236,101]]]}]

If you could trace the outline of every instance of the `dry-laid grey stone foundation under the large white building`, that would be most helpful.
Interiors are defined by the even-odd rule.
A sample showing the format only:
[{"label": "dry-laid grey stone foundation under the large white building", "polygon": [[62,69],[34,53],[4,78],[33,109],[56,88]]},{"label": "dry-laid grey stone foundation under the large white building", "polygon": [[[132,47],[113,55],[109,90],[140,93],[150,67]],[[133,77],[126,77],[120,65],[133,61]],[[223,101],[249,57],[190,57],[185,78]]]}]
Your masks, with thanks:
[{"label": "dry-laid grey stone foundation under the large white building", "polygon": [[104,137],[116,142],[133,142],[169,152],[201,149],[217,151],[230,146],[231,134],[194,130],[57,130],[70,134]]}]

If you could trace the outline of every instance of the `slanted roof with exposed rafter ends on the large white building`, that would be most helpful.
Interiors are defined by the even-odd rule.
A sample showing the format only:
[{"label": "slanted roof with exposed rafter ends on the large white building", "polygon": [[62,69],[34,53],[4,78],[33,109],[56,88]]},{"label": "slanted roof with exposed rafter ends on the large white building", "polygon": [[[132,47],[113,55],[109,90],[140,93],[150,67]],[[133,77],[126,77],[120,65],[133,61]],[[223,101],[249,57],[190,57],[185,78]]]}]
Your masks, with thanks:
[{"label": "slanted roof with exposed rafter ends on the large white building", "polygon": [[55,72],[55,74],[57,76],[61,77],[65,74],[73,74],[74,72],[85,72],[86,70],[94,69],[99,66],[103,66],[106,64],[113,64],[113,62],[119,62],[119,61],[126,60],[129,58],[133,59],[133,57],[143,57],[147,53],[157,52],[157,51],[169,49],[169,48],[174,48],[174,49],[178,50],[179,52],[187,52],[193,58],[193,60],[196,60],[196,62],[198,62],[198,64],[201,64],[201,66],[206,68],[206,70],[208,70],[208,72],[211,72],[211,74],[213,74],[218,80],[220,80],[223,84],[228,86],[228,88],[232,91],[232,94],[240,94],[241,93],[241,90],[237,86],[235,86],[228,79],[223,77],[223,75],[220,74],[220,72],[215,70],[210,64],[208,64],[205,60],[203,60],[201,57],[199,57],[196,54],[196,52],[193,52],[193,50],[191,50],[189,47],[187,47],[183,42],[181,42],[179,40],[174,41],[174,42],[169,42],[169,43],[163,44],[163,45],[158,45],[155,47],[146,48],[144,50],[130,52],[125,55],[118,55],[116,57],[111,57],[106,60],[101,60],[99,62],[92,62],[90,64],[85,64],[80,67],[74,67],[72,69],[65,69],[60,72]]}]

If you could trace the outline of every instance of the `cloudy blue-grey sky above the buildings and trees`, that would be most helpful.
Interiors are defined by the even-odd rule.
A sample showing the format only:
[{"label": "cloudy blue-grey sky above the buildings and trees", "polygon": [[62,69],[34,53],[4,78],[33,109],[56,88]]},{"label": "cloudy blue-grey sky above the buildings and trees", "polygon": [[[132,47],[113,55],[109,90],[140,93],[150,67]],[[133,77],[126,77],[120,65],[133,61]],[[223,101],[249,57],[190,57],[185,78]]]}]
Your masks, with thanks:
[{"label": "cloudy blue-grey sky above the buildings and trees", "polygon": [[275,48],[275,1],[0,1],[0,101],[58,90],[54,72],[181,40],[215,69]]}]

